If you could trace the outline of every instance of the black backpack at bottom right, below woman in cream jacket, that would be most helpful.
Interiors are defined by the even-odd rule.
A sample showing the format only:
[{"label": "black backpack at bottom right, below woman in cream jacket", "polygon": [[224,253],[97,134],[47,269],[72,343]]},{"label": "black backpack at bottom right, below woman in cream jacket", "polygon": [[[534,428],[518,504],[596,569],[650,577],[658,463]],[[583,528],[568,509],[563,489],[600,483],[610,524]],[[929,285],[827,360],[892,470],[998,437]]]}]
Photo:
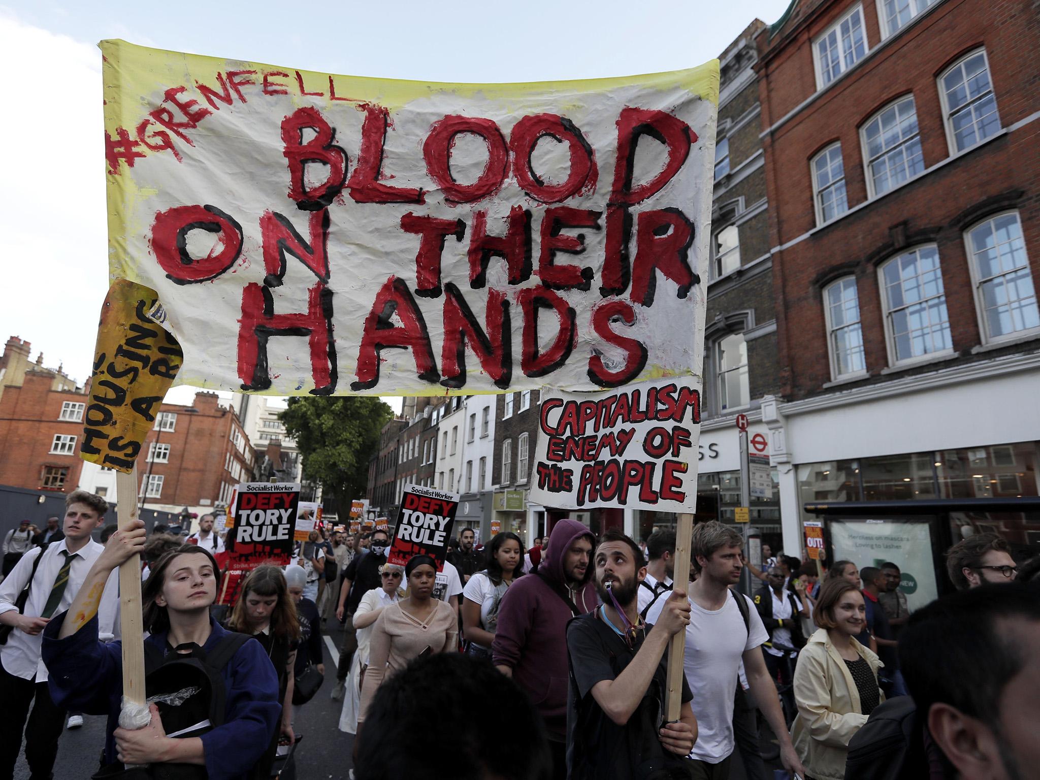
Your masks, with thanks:
[{"label": "black backpack at bottom right, below woman in cream jacket", "polygon": [[928,777],[917,707],[896,696],[870,712],[849,743],[846,780],[902,780]]}]

